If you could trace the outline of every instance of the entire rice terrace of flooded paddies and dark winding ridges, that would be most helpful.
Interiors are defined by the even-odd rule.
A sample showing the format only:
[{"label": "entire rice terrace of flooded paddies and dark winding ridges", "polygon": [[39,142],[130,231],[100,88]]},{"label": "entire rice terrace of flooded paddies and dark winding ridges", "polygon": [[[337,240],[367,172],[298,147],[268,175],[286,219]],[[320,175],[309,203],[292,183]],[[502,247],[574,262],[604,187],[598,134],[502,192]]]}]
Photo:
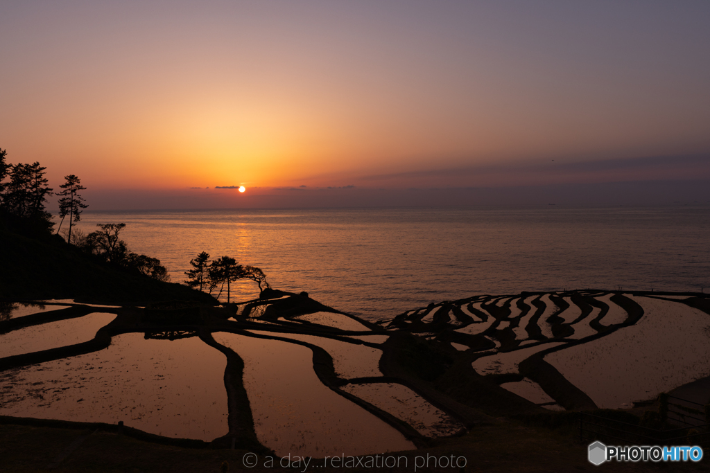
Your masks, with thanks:
[{"label": "entire rice terrace of flooded paddies and dark winding ridges", "polygon": [[697,444],[709,315],[704,294],[592,290],[474,296],[378,323],[274,289],[222,306],[6,301],[0,415],[310,467],[443,448],[459,455],[430,471],[451,471],[476,432],[552,425],[576,438],[579,411],[607,420],[593,438],[618,438],[623,421]]}]

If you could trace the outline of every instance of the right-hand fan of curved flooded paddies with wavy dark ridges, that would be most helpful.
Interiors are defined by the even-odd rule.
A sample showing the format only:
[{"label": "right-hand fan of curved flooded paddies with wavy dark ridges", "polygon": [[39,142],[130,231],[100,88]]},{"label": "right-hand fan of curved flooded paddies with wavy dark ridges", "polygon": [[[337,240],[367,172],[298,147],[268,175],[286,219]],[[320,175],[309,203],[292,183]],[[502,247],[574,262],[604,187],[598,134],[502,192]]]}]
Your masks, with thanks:
[{"label": "right-hand fan of curved flooded paddies with wavy dark ridges", "polygon": [[[420,309],[403,313],[386,326],[406,328],[427,339],[437,326],[434,339],[469,354],[476,373],[518,377],[501,383],[501,388],[545,408],[561,408],[559,400],[520,371],[521,363],[529,359],[533,372],[541,366],[540,361],[532,362],[535,355],[596,406],[619,408],[710,376],[705,361],[710,355],[710,314],[706,305],[701,310],[685,304],[690,300],[690,295],[606,291],[523,293],[517,299],[476,296],[426,308],[427,313],[441,315],[451,311],[452,320],[464,313],[469,317],[463,325],[439,320],[437,326],[433,319],[417,318]],[[525,306],[530,310],[523,315]],[[709,402],[710,393],[707,398]]]}]

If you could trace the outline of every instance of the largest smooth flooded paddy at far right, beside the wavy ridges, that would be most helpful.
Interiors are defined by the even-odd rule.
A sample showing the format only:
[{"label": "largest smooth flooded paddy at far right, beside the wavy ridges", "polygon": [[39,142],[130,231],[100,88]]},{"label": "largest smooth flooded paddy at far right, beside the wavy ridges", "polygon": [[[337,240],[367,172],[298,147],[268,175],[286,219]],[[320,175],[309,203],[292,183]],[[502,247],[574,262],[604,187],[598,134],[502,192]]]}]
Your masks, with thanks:
[{"label": "largest smooth flooded paddy at far right, beside the wavy ridges", "polygon": [[628,297],[643,307],[640,321],[545,356],[601,408],[652,399],[710,374],[706,313],[677,302]]}]

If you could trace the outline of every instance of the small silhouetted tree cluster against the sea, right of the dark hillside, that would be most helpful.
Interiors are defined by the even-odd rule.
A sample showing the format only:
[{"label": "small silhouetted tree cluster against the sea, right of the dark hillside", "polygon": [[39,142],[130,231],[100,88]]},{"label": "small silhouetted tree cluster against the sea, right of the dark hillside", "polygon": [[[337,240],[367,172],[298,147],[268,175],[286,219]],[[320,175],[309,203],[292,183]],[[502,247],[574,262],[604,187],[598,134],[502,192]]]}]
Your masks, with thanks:
[{"label": "small silhouetted tree cluster against the sea, right of the dark hillside", "polygon": [[192,265],[192,269],[185,272],[185,276],[188,278],[185,284],[200,291],[208,289],[209,294],[212,294],[212,291],[219,286],[217,299],[222,295],[224,284],[226,284],[227,303],[230,298],[230,285],[237,279],[251,279],[258,284],[260,291],[271,287],[266,281],[266,274],[261,269],[254,266],[242,266],[233,257],[222,256],[210,262],[209,254],[203,251],[194,260],[190,260],[190,265]]}]

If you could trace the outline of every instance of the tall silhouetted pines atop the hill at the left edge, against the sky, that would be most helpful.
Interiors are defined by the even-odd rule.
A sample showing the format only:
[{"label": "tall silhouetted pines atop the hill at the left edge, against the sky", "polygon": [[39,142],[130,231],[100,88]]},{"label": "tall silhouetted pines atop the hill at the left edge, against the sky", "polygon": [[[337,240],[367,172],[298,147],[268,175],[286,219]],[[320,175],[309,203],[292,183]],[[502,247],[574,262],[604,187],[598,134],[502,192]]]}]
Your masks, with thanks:
[{"label": "tall silhouetted pines atop the hill at the left edge, against the sky", "polygon": [[39,162],[11,165],[6,159],[7,150],[0,149],[0,215],[31,236],[51,234],[54,222],[45,204],[48,197],[56,194],[60,196],[59,216],[62,223],[67,215],[70,216],[70,239],[72,226],[80,220],[82,210],[87,208],[79,195],[79,191],[86,189],[80,179],[74,174],[65,176],[65,183],[60,185],[62,190],[55,193],[45,177],[47,168],[40,166]]}]

